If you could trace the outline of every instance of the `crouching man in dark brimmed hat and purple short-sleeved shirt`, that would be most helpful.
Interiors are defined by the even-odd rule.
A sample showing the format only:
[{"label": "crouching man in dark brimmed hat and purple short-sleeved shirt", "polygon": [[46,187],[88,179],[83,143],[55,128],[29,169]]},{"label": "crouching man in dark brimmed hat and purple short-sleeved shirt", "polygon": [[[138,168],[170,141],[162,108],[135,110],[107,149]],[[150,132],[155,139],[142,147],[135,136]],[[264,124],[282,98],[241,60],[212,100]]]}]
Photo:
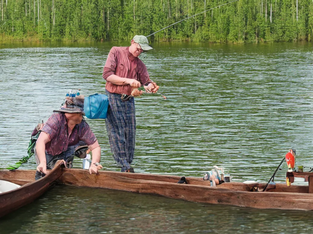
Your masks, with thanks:
[{"label": "crouching man in dark brimmed hat and purple short-sleeved shirt", "polygon": [[52,169],[57,160],[63,160],[64,165],[71,168],[75,149],[86,145],[92,152],[89,172],[98,173],[98,169],[102,168],[99,164],[101,149],[95,134],[83,118],[84,96],[66,97],[60,110],[53,112],[57,113],[52,114],[38,129],[41,132],[34,149],[38,165],[35,179],[47,174],[47,169]]}]

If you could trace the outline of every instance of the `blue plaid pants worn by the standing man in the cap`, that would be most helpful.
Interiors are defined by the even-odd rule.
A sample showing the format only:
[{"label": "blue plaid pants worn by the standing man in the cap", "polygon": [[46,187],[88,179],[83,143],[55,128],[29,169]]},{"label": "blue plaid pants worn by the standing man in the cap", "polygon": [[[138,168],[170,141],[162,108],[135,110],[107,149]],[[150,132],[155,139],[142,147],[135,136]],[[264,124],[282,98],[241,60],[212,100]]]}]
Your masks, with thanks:
[{"label": "blue plaid pants worn by the standing man in the cap", "polygon": [[121,100],[121,94],[105,90],[109,99],[108,117],[105,119],[113,158],[121,172],[131,167],[135,152],[136,116],[135,101]]}]

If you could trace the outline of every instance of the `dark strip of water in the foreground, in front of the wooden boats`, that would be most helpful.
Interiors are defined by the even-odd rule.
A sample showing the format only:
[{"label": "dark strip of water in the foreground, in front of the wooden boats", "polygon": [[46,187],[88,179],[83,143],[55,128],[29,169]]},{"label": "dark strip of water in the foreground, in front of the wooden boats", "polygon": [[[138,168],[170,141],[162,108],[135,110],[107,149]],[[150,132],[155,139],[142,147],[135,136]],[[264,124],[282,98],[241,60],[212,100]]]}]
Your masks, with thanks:
[{"label": "dark strip of water in the foreground, in front of the wooden boats", "polygon": [[3,234],[311,233],[312,214],[56,186],[32,204],[11,213],[0,225],[4,227]]}]

